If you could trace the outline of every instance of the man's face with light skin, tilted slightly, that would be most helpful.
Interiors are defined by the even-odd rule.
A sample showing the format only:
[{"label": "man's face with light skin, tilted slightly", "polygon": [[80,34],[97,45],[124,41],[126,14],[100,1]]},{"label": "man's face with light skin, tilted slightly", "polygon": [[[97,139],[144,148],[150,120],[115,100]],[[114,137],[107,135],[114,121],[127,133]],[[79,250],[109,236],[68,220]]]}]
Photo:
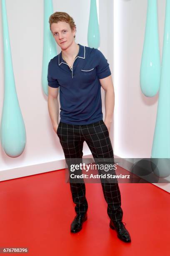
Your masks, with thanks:
[{"label": "man's face with light skin, tilted slightly", "polygon": [[71,31],[70,24],[65,21],[51,24],[52,35],[61,49],[67,49],[74,41],[75,28]]}]

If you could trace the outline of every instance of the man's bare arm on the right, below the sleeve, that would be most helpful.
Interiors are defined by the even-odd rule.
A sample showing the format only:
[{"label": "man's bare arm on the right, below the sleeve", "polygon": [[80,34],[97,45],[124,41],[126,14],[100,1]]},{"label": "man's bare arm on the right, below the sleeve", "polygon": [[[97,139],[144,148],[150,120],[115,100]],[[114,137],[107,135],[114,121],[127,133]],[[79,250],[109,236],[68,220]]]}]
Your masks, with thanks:
[{"label": "man's bare arm on the right, below the sleeve", "polygon": [[115,92],[112,82],[112,76],[99,79],[100,84],[105,90],[105,125],[107,126],[108,131],[110,132],[110,126],[112,123],[112,116],[115,107]]}]

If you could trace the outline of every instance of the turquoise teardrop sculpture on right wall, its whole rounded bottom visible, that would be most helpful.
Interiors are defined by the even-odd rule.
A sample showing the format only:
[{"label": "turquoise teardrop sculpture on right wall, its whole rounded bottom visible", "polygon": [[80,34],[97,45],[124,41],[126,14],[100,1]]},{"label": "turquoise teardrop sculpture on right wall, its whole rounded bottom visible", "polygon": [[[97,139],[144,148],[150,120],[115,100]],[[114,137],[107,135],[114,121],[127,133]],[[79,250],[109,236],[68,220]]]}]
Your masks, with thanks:
[{"label": "turquoise teardrop sculpture on right wall, its whole rounded bottom visible", "polygon": [[160,47],[157,0],[148,0],[145,39],[140,66],[140,88],[147,97],[157,94],[160,84]]}]

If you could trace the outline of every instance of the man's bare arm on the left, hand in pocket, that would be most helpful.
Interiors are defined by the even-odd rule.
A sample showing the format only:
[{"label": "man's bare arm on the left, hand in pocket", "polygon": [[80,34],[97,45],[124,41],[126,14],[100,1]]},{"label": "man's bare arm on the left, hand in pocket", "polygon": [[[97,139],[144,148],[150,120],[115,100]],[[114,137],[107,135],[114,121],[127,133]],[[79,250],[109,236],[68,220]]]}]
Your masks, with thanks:
[{"label": "man's bare arm on the left, hand in pocket", "polygon": [[48,86],[48,111],[55,133],[57,132],[59,113],[58,88]]}]

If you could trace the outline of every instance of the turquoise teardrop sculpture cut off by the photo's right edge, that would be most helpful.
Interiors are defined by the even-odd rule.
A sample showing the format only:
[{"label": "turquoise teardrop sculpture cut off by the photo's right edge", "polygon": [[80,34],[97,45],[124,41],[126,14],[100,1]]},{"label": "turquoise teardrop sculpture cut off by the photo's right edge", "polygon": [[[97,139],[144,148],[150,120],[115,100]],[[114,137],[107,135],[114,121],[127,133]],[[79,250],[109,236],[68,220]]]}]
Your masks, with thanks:
[{"label": "turquoise teardrop sculpture cut off by the photo's right edge", "polygon": [[[170,0],[166,1],[162,67],[152,158],[158,158],[157,175],[170,175]],[[164,159],[164,160],[163,160]],[[165,163],[165,164],[163,164]],[[168,169],[167,169],[168,168]]]}]

